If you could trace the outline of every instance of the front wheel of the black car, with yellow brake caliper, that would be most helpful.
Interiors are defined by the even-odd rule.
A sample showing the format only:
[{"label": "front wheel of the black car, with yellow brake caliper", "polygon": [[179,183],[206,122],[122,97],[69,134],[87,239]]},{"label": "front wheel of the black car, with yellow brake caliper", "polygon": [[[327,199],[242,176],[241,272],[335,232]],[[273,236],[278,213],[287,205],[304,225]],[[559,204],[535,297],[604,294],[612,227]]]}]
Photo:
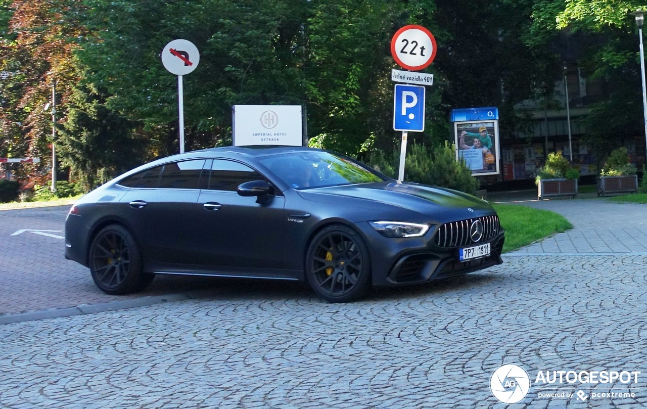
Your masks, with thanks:
[{"label": "front wheel of the black car, with yellow brake caliper", "polygon": [[352,302],[369,287],[371,260],[352,228],[331,225],[314,236],[305,256],[308,283],[327,302]]}]

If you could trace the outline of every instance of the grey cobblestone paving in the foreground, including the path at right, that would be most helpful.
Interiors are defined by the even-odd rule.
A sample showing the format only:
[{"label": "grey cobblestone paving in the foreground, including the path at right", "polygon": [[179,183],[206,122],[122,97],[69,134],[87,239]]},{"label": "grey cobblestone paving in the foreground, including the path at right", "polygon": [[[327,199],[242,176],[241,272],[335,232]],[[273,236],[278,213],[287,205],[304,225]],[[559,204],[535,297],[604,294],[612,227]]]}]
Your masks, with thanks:
[{"label": "grey cobblestone paving in the foreground, including the path at right", "polygon": [[[554,206],[571,234],[644,233],[646,205],[612,212],[594,202],[604,201],[529,205]],[[5,324],[0,407],[646,407],[647,252],[589,243],[591,252],[569,237],[563,252],[522,249],[484,272],[377,289],[353,304],[327,304],[298,284],[228,280],[199,298]],[[492,395],[502,364],[529,375],[518,404]],[[535,382],[540,371],[640,373],[549,384]]]}]

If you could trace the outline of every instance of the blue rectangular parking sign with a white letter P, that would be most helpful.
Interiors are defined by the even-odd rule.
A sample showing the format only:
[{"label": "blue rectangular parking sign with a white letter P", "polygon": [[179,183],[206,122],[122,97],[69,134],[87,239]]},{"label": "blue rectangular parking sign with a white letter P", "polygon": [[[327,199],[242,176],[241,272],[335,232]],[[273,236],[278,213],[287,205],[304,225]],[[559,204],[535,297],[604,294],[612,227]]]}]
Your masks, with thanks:
[{"label": "blue rectangular parking sign with a white letter P", "polygon": [[424,87],[395,84],[393,129],[395,131],[424,131]]}]

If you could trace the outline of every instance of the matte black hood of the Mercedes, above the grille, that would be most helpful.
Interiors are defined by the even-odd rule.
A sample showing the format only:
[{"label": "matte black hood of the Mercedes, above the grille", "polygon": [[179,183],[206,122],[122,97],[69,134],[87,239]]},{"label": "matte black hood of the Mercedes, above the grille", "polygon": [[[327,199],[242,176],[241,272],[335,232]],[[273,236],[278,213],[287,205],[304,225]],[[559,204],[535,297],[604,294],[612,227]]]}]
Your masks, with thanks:
[{"label": "matte black hood of the Mercedes, above the grille", "polygon": [[[487,201],[456,190],[425,186],[411,182],[375,182],[329,186],[299,192],[304,199],[327,201],[346,197],[347,205],[371,210],[393,206],[418,214],[433,215],[434,219],[454,221],[487,214],[496,214]],[[353,203],[350,203],[350,202]]]}]

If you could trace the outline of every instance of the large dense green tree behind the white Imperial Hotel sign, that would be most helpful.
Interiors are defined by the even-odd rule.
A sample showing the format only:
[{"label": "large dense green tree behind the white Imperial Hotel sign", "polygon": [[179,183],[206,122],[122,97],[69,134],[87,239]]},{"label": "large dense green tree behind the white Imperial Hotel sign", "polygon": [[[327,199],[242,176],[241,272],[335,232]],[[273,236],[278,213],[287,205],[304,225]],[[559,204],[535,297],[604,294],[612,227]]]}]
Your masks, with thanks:
[{"label": "large dense green tree behind the white Imperial Hotel sign", "polygon": [[[82,39],[78,56],[91,67],[87,79],[111,94],[108,107],[142,120],[146,130],[176,126],[177,79],[159,60],[174,38],[201,52],[199,67],[184,78],[192,148],[218,143],[235,104],[304,105],[311,135],[349,153],[375,130],[371,122],[385,124],[374,120],[384,102],[375,83],[391,65],[393,7],[382,1],[85,4],[78,16],[93,35]],[[196,144],[199,133],[213,137]]]}]

